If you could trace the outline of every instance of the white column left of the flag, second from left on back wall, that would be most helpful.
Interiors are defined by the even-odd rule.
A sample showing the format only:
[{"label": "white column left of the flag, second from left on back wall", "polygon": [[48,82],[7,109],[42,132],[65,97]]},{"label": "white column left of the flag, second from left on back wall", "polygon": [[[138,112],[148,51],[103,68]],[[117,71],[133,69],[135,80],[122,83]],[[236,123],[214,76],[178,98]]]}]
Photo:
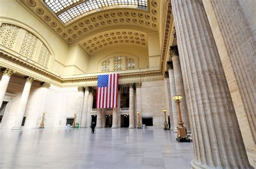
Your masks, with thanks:
[{"label": "white column left of the flag, second from left on back wall", "polygon": [[89,86],[84,87],[84,103],[82,111],[82,119],[80,123],[80,128],[86,128],[87,122],[87,111],[88,111],[88,100],[89,100]]}]

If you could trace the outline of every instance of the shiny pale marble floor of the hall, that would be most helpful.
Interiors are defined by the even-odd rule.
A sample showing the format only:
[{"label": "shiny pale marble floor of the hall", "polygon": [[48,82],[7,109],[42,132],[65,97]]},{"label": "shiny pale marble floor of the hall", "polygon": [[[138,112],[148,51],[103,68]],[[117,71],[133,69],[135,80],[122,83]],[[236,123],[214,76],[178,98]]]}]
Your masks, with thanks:
[{"label": "shiny pale marble floor of the hall", "polygon": [[163,129],[0,130],[0,168],[191,168],[192,143]]}]

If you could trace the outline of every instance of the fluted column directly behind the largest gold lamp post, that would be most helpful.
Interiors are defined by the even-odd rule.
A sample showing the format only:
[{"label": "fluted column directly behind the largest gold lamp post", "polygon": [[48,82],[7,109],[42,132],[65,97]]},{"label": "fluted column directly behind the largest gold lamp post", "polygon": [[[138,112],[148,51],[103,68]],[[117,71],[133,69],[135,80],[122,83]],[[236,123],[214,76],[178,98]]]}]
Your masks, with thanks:
[{"label": "fluted column directly behind the largest gold lamp post", "polygon": [[184,89],[184,84],[183,84],[183,77],[182,77],[182,73],[181,73],[178,47],[171,46],[170,54],[172,57],[173,74],[174,74],[174,81],[175,81],[175,85],[176,85],[175,86],[176,94],[182,96],[182,100],[180,102],[181,117],[182,117],[182,121],[184,122],[184,125],[187,129],[187,135],[190,135],[191,134],[190,119],[188,117],[187,101],[186,101],[185,89]]}]

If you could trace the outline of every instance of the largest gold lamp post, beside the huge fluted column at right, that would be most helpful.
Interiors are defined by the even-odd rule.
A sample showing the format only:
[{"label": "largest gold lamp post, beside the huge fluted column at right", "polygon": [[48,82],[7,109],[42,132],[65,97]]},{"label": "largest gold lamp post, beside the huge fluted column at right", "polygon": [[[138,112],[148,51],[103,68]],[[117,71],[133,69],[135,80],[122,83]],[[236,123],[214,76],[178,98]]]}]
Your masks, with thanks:
[{"label": "largest gold lamp post, beside the huge fluted column at right", "polygon": [[177,110],[178,110],[178,127],[177,127],[178,135],[176,140],[178,142],[190,142],[190,139],[187,138],[187,129],[184,127],[183,125],[184,123],[181,117],[180,101],[182,99],[182,96],[176,95],[176,96],[173,96],[173,99],[177,103]]}]

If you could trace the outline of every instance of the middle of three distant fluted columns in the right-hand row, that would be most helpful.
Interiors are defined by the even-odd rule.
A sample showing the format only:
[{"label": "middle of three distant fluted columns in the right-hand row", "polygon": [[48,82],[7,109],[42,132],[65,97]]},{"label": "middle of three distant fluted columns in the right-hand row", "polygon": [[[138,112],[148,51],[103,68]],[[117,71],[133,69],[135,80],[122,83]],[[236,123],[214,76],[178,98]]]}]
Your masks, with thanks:
[{"label": "middle of three distant fluted columns in the right-hand row", "polygon": [[178,132],[177,126],[178,126],[178,111],[177,111],[177,106],[175,101],[173,100],[173,96],[176,95],[176,86],[175,86],[175,81],[174,81],[174,73],[173,73],[173,65],[172,61],[167,62],[167,68],[168,68],[168,73],[169,73],[169,80],[170,80],[170,97],[171,97],[171,102],[172,102],[172,115],[173,115],[173,131]]}]

